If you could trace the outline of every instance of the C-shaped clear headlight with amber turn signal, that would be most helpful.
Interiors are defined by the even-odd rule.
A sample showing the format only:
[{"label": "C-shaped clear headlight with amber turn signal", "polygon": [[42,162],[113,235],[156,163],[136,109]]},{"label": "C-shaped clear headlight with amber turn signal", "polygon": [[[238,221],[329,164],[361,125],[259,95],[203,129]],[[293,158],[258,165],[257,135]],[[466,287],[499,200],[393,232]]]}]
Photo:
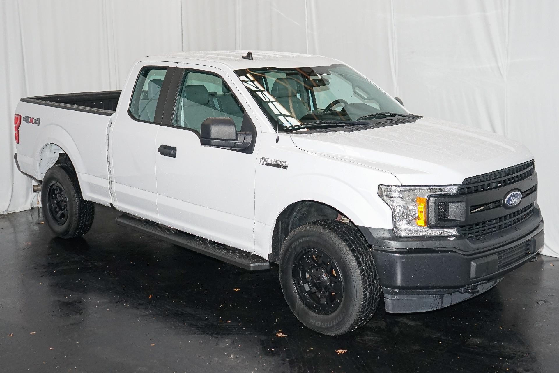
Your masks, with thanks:
[{"label": "C-shaped clear headlight with amber turn signal", "polygon": [[427,226],[427,197],[433,194],[456,194],[459,185],[397,186],[379,185],[378,195],[392,209],[394,233],[401,237],[457,236],[456,228]]}]

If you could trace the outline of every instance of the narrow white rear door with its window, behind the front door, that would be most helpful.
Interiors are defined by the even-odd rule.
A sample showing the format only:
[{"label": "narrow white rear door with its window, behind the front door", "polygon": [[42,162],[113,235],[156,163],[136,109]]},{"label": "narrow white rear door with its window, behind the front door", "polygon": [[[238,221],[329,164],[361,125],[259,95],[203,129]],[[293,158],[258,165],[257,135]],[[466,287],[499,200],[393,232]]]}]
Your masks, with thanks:
[{"label": "narrow white rear door with its window, behind the front door", "polygon": [[155,156],[165,98],[176,63],[146,62],[136,65],[121,97],[111,127],[111,190],[113,204],[126,213],[157,220]]}]

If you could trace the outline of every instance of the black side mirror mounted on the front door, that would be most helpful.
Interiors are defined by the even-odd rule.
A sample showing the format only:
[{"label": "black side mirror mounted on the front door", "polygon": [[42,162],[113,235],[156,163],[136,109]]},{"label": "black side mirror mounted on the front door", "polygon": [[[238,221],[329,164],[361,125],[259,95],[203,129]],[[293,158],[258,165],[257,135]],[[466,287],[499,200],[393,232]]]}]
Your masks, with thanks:
[{"label": "black side mirror mounted on the front door", "polygon": [[231,150],[247,149],[252,133],[237,132],[235,122],[227,116],[210,117],[200,127],[200,144]]}]

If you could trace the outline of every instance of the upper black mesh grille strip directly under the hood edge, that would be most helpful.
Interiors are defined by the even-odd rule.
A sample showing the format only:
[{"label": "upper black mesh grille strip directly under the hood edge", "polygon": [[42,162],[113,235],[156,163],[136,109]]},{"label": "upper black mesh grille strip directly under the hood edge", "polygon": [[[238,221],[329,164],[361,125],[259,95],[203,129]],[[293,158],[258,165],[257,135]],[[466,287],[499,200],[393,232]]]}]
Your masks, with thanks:
[{"label": "upper black mesh grille strip directly under the hood edge", "polygon": [[470,177],[462,182],[459,194],[465,195],[477,193],[510,185],[532,176],[533,173],[534,160],[530,160],[529,162],[517,164],[516,166],[509,168],[503,168],[499,171]]}]

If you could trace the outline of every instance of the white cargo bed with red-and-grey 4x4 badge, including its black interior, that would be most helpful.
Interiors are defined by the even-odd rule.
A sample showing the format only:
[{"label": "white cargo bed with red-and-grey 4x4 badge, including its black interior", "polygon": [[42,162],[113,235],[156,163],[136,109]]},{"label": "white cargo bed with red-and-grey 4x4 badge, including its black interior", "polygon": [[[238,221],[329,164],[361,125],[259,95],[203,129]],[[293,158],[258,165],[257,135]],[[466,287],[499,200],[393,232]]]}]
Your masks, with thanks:
[{"label": "white cargo bed with red-and-grey 4x4 badge, including its black interior", "polygon": [[21,172],[40,181],[51,161],[66,153],[84,199],[109,205],[107,130],[119,97],[120,91],[102,91],[22,98],[16,108]]}]

